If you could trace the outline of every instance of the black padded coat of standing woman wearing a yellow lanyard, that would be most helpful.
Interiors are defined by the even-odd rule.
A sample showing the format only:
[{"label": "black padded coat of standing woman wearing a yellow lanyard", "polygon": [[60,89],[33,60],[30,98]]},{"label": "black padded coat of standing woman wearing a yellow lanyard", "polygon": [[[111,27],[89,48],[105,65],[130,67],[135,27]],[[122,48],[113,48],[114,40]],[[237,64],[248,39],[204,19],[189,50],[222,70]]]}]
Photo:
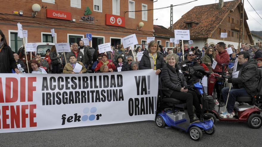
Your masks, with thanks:
[{"label": "black padded coat of standing woman wearing a yellow lanyard", "polygon": [[[144,55],[142,56],[141,61],[139,62],[139,70],[141,69],[151,69],[151,63],[149,58],[148,50],[144,51]],[[156,70],[160,69],[162,71],[162,68],[165,67],[165,61],[164,57],[160,55],[160,53],[157,52],[157,59],[156,59]]]}]

